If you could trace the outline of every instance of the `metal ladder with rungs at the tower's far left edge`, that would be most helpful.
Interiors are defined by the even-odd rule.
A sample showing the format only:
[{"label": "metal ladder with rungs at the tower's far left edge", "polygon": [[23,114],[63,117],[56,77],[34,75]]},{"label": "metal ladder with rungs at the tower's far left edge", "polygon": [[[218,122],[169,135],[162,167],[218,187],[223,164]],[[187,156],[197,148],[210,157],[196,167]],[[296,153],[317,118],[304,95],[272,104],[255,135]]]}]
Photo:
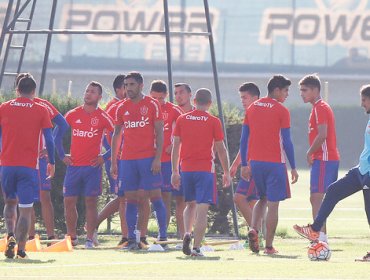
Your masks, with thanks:
[{"label": "metal ladder with rungs at the tower's far left edge", "polygon": [[[14,2],[14,0],[9,0],[0,37],[0,54],[2,53],[4,45],[6,45],[4,56],[1,62],[0,87],[4,77],[10,76],[12,78],[15,78],[21,72],[29,33],[26,32],[24,34],[18,34],[17,36],[14,36],[15,34],[11,33],[10,31],[15,30],[18,25],[19,27],[23,27],[23,29],[26,31],[29,31],[31,29],[32,19],[37,1],[17,0],[16,3]],[[11,18],[11,14],[13,14],[13,18]],[[17,41],[19,41],[19,43],[17,43]],[[12,55],[13,53],[14,57],[18,58],[18,62],[16,63],[16,65],[9,65],[9,55]]]}]

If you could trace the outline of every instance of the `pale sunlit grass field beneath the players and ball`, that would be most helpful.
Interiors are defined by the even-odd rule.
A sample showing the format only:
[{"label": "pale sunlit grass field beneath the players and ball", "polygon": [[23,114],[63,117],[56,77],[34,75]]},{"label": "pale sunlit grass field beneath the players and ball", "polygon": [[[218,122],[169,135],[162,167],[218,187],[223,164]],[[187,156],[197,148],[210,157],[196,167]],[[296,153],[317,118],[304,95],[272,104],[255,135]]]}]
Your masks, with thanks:
[{"label": "pale sunlit grass field beneath the players and ball", "polygon": [[175,249],[125,252],[112,249],[118,237],[102,236],[94,250],[80,246],[70,253],[29,253],[29,260],[1,259],[0,279],[370,279],[370,263],[354,261],[370,251],[361,193],[339,203],[329,218],[330,261],[308,260],[308,242],[292,230],[311,221],[307,182],[308,172],[301,172],[292,199],[281,204],[276,256],[228,245],[201,259]]}]

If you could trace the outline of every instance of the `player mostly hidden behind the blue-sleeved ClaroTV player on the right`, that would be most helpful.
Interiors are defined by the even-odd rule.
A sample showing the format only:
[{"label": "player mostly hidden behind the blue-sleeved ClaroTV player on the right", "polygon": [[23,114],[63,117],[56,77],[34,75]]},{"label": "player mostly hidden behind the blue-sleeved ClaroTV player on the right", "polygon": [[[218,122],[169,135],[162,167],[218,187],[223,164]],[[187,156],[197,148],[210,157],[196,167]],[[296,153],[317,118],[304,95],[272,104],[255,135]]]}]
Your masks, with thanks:
[{"label": "player mostly hidden behind the blue-sleeved ClaroTV player on the right", "polygon": [[[247,82],[239,87],[239,94],[243,108],[246,111],[249,105],[251,105],[254,101],[259,99],[260,90],[255,83]],[[240,163],[241,163],[240,152],[238,152],[230,167],[231,177],[235,176]],[[243,178],[240,178],[234,194],[234,202],[238,209],[240,210],[240,212],[242,213],[248,226],[251,225],[252,223],[253,206],[256,203],[257,199],[258,197],[254,181],[253,180],[246,181]]]}]

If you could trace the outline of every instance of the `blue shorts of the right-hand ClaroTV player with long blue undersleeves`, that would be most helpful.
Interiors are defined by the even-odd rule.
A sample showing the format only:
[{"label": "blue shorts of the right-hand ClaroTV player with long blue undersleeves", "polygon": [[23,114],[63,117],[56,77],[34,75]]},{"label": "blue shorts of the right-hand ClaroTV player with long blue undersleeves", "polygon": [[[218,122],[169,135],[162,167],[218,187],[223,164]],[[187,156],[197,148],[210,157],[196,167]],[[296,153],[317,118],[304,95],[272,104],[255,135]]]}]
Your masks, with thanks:
[{"label": "blue shorts of the right-hand ClaroTV player with long blue undersleeves", "polygon": [[260,198],[282,201],[290,198],[290,186],[285,163],[251,161],[251,171]]}]

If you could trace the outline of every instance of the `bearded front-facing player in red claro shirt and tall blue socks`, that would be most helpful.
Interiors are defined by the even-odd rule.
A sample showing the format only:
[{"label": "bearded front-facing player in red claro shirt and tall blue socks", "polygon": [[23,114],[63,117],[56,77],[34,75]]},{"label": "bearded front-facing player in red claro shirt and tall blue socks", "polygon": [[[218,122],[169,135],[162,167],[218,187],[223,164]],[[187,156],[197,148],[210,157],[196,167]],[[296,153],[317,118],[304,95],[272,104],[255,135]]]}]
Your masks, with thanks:
[{"label": "bearded front-facing player in red claro shirt and tall blue socks", "polygon": [[[139,72],[125,77],[128,99],[116,111],[116,125],[112,138],[111,173],[118,178],[118,196],[126,197],[128,244],[126,249],[139,249],[136,243],[138,203],[149,197],[156,212],[159,240],[167,240],[166,208],[161,195],[161,155],[163,147],[163,116],[155,99],[142,93],[144,80]],[[117,164],[122,129],[124,142]]]}]

